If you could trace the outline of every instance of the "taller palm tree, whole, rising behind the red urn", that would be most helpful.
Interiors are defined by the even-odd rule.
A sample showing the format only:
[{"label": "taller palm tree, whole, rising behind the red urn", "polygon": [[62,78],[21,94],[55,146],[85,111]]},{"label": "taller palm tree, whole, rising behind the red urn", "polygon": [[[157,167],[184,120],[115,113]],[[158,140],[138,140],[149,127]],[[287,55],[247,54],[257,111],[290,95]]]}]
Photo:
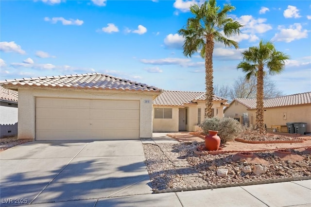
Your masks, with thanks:
[{"label": "taller palm tree, whole, rising behind the red urn", "polygon": [[206,109],[205,118],[212,118],[213,101],[213,51],[214,41],[238,48],[238,43],[227,39],[232,35],[240,34],[242,25],[238,21],[227,17],[227,13],[235,10],[234,6],[224,4],[221,9],[216,0],[205,1],[201,6],[190,6],[194,17],[187,20],[187,24],[178,34],[185,38],[183,45],[184,55],[191,57],[200,52],[205,58]]}]

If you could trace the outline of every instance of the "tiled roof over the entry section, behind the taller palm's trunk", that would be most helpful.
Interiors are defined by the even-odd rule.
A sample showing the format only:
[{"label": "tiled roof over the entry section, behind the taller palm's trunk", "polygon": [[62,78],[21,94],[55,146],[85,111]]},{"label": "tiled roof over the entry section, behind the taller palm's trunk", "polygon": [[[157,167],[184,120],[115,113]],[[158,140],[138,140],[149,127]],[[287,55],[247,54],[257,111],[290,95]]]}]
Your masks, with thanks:
[{"label": "tiled roof over the entry section, behind the taller palm's trunk", "polygon": [[[195,104],[193,101],[204,101],[205,97],[205,92],[166,90],[155,98],[153,104],[184,106],[184,104]],[[214,96],[213,100],[222,101],[224,103],[227,101],[226,99],[218,96]]]}]

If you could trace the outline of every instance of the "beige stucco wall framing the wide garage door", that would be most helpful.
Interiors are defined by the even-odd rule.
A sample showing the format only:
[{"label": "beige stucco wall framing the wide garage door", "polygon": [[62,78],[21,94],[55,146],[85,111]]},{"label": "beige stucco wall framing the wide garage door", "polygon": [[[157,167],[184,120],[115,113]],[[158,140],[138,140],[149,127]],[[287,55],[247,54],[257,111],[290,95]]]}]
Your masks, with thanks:
[{"label": "beige stucco wall framing the wide garage door", "polygon": [[139,137],[152,137],[152,101],[155,93],[131,91],[104,91],[92,89],[18,89],[18,138],[35,139],[35,98],[71,98],[97,100],[139,100]]}]

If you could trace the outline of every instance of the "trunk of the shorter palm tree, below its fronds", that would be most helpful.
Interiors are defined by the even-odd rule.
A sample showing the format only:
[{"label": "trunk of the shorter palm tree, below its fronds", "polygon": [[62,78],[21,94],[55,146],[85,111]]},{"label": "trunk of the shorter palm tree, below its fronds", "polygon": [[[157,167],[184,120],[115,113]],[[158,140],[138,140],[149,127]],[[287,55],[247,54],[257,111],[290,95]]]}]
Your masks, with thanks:
[{"label": "trunk of the shorter palm tree, below its fronds", "polygon": [[263,123],[263,67],[258,68],[257,72],[257,110],[256,110],[256,128],[260,134],[265,131]]}]

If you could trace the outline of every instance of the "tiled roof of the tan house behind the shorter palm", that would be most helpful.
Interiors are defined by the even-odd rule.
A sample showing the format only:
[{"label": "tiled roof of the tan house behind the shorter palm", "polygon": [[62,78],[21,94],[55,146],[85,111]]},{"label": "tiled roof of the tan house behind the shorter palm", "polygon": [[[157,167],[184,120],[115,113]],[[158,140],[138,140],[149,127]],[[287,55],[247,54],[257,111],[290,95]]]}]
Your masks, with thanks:
[{"label": "tiled roof of the tan house behind the shorter palm", "polygon": [[[245,105],[249,109],[256,108],[256,99],[235,99],[235,101]],[[289,106],[289,105],[300,105],[300,104],[311,104],[311,92],[298,93],[298,94],[263,100],[264,108]]]}]

